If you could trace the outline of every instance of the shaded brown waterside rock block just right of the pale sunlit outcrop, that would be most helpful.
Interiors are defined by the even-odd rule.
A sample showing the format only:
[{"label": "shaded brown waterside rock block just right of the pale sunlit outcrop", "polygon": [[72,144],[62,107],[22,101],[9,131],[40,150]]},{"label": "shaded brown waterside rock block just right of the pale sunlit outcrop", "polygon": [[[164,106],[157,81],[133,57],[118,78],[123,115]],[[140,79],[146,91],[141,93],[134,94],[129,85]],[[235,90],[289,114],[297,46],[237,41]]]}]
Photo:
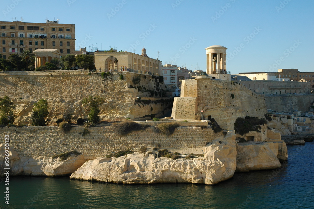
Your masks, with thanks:
[{"label": "shaded brown waterside rock block just right of the pale sunlit outcrop", "polygon": [[236,171],[274,169],[281,167],[277,155],[279,144],[273,142],[247,142],[236,144]]}]

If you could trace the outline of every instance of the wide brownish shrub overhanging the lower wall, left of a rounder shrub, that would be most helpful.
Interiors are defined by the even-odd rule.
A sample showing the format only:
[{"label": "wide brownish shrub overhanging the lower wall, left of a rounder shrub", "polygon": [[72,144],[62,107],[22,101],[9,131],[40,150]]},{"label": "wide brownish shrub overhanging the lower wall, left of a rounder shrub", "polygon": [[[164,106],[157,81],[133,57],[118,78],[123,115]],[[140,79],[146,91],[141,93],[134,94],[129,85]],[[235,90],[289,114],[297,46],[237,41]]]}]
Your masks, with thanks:
[{"label": "wide brownish shrub overhanging the lower wall, left of a rounder shrub", "polygon": [[127,135],[132,131],[145,130],[147,127],[149,127],[149,125],[138,124],[128,120],[113,124],[113,129],[119,136]]}]

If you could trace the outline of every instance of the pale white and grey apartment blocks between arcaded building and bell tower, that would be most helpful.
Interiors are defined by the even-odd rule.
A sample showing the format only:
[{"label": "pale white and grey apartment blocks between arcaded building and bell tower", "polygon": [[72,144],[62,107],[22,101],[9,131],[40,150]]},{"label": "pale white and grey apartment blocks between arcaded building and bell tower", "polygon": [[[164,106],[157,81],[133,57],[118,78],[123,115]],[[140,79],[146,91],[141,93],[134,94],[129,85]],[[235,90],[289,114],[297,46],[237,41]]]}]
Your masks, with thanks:
[{"label": "pale white and grey apartment blocks between arcaded building and bell tower", "polygon": [[181,89],[182,80],[191,79],[191,70],[176,65],[165,64],[162,66],[162,75],[167,89]]}]

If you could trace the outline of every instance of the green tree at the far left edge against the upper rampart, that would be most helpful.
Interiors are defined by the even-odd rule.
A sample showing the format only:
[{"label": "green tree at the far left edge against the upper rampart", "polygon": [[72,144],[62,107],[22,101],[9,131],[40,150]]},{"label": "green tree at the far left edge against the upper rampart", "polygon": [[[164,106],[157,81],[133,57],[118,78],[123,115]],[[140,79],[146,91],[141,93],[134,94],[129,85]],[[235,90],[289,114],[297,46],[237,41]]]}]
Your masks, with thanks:
[{"label": "green tree at the far left edge against the upper rampart", "polygon": [[0,98],[0,124],[8,125],[10,117],[10,122],[14,122],[13,109],[15,109],[14,103],[10,100],[8,96]]}]

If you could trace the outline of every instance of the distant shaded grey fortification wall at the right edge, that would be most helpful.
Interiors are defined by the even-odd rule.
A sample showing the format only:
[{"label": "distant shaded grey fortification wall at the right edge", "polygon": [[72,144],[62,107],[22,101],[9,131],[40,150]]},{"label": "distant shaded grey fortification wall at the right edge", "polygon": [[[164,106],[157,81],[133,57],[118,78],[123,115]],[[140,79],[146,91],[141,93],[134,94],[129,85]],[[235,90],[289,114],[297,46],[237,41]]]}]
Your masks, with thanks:
[{"label": "distant shaded grey fortification wall at the right edge", "polygon": [[314,102],[314,94],[269,95],[265,96],[265,102],[267,109],[273,111],[292,113],[293,110],[299,110],[304,113],[310,111]]}]

